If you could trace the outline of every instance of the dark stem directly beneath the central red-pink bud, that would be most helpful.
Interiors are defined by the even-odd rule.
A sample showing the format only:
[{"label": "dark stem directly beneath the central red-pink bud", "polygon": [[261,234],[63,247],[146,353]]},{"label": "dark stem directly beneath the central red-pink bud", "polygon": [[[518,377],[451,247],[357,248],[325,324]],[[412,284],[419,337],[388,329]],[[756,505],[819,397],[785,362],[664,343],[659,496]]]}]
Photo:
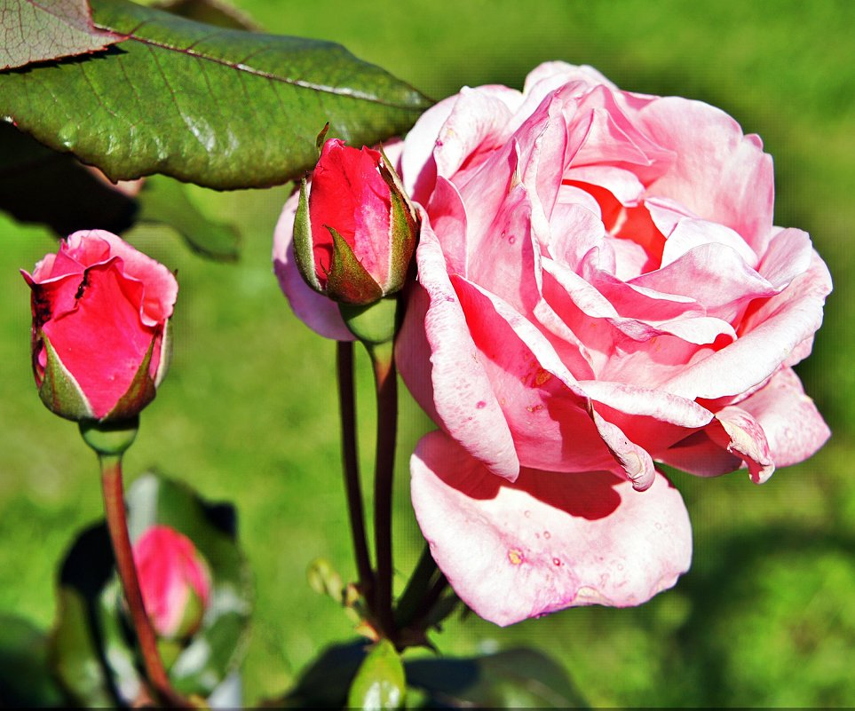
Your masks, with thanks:
[{"label": "dark stem directly beneath the central red-pink bud", "polygon": [[392,479],[398,430],[398,383],[392,342],[368,348],[377,393],[377,440],[374,471],[374,536],[377,556],[376,612],[384,635],[396,636],[392,616]]}]

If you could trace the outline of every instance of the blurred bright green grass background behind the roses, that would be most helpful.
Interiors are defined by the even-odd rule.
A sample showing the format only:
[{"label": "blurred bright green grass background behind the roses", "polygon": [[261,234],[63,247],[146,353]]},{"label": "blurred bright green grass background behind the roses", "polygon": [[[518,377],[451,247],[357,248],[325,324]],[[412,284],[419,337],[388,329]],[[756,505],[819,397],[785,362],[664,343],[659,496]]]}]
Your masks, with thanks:
[{"label": "blurred bright green grass background behind the roses", "polygon": [[[835,280],[811,359],[798,368],[834,436],[764,486],[744,472],[677,478],[693,520],[694,561],[676,589],[636,609],[570,610],[512,628],[471,616],[435,637],[469,654],[528,644],[560,660],[594,705],[855,705],[855,3],[235,2],[270,31],[344,43],[439,99],[463,84],[520,87],[546,59],[598,67],[622,88],[724,108],[759,133],[776,169],[776,222],[812,235]],[[289,312],[269,255],[284,188],[192,191],[236,221],[238,265],[191,254],[169,230],[130,239],[181,285],[175,358],[138,443],[150,467],[234,502],[256,581],[244,667],[248,702],[282,691],[322,645],[352,635],[305,583],[326,556],[352,575],[339,485],[334,346]],[[47,627],[54,565],[99,517],[94,456],[76,427],[36,397],[29,369],[31,268],[55,242],[0,217],[0,610]],[[360,360],[360,416],[372,413]],[[397,478],[400,586],[422,542],[408,504],[408,454],[428,423],[405,397]],[[363,469],[370,463],[363,455]]]}]

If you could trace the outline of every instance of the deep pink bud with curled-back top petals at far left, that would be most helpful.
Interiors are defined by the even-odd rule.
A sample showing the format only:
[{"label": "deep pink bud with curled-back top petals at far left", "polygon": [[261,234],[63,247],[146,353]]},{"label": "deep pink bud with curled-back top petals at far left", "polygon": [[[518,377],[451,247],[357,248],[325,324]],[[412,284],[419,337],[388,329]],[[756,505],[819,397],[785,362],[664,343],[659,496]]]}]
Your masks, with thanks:
[{"label": "deep pink bud with curled-back top petals at far left", "polygon": [[69,420],[130,419],[169,364],[178,282],[103,230],[76,232],[32,274],[33,371],[44,404]]}]

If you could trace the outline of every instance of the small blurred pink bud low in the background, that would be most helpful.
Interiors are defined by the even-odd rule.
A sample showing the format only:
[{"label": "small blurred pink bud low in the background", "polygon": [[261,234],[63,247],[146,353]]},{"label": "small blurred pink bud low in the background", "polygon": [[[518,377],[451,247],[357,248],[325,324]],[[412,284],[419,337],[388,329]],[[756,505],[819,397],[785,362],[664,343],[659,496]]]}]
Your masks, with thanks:
[{"label": "small blurred pink bud low in the background", "polygon": [[167,639],[194,634],[210,602],[208,563],[168,525],[146,529],[133,546],[139,589],[154,631]]}]

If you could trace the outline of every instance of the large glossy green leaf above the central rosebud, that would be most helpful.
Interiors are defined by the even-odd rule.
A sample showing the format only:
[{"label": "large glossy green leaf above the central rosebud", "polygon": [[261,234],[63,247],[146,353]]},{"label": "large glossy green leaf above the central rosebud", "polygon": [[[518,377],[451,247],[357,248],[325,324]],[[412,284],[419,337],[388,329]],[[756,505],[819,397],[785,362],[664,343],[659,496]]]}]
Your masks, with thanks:
[{"label": "large glossy green leaf above the central rosebud", "polygon": [[128,37],[86,59],[0,73],[0,117],[115,180],[151,173],[216,188],[286,182],[314,137],[372,144],[428,99],[335,43],[213,28],[125,0],[92,3]]}]

